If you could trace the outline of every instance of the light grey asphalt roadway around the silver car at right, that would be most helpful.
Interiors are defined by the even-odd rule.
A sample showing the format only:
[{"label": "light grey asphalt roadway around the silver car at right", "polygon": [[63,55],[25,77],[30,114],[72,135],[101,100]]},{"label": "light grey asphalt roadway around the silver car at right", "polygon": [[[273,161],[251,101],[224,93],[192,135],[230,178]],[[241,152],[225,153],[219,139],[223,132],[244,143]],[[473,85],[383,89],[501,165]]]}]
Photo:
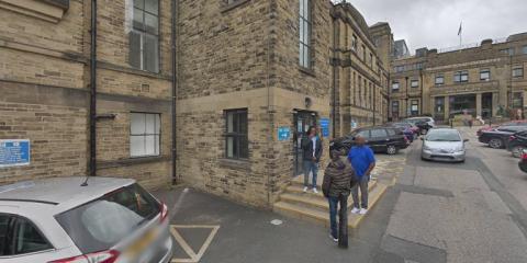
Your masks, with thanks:
[{"label": "light grey asphalt roadway around the silver car at right", "polygon": [[415,262],[527,262],[527,183],[516,160],[461,130],[471,139],[464,163],[422,161],[413,146],[381,249]]}]

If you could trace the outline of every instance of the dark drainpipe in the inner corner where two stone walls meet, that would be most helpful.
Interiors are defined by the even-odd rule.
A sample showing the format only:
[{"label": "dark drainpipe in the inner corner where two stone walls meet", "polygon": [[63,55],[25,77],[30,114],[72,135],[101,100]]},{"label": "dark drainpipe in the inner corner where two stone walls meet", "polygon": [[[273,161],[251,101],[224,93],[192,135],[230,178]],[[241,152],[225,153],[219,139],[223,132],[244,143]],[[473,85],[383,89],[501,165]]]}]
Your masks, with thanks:
[{"label": "dark drainpipe in the inner corner where two stone walls meet", "polygon": [[176,46],[176,34],[178,32],[177,30],[177,23],[178,23],[178,5],[177,5],[177,0],[172,0],[172,32],[171,32],[171,37],[170,37],[170,45],[171,45],[171,57],[172,57],[172,68],[171,68],[171,73],[172,73],[172,91],[171,91],[171,128],[172,128],[172,145],[171,145],[171,164],[172,164],[172,185],[178,184],[178,163],[177,163],[177,139],[178,139],[178,133],[176,130],[177,127],[177,88],[178,88],[178,78],[177,78],[177,46]]}]

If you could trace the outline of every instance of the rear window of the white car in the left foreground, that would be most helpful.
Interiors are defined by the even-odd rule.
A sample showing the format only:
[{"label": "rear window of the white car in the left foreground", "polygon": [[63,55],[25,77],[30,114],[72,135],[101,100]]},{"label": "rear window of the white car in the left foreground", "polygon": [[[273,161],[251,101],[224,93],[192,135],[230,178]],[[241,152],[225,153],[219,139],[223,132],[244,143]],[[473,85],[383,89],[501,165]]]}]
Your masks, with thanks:
[{"label": "rear window of the white car in the left foreground", "polygon": [[159,203],[133,184],[55,218],[82,253],[92,253],[112,248],[159,213]]}]

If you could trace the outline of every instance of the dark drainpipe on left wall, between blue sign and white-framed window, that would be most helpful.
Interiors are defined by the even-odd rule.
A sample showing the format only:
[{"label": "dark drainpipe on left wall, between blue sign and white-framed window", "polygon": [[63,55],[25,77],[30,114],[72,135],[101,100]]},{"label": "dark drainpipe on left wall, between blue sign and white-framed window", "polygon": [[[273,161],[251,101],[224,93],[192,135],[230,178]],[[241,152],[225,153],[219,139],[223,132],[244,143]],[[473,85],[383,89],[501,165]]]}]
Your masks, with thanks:
[{"label": "dark drainpipe on left wall, between blue sign and white-framed window", "polygon": [[90,176],[97,175],[97,0],[91,0]]}]

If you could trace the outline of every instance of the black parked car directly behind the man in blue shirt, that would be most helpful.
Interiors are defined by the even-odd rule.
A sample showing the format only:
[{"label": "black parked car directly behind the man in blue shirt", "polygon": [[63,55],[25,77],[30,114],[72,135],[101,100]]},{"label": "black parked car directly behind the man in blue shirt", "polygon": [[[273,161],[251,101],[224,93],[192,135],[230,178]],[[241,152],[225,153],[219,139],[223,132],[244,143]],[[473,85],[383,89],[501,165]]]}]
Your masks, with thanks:
[{"label": "black parked car directly behind the man in blue shirt", "polygon": [[362,136],[367,145],[375,152],[395,155],[401,149],[406,149],[410,141],[399,128],[392,127],[366,127],[354,130],[350,135],[337,138],[329,142],[330,150],[348,152],[356,145],[355,137]]}]

